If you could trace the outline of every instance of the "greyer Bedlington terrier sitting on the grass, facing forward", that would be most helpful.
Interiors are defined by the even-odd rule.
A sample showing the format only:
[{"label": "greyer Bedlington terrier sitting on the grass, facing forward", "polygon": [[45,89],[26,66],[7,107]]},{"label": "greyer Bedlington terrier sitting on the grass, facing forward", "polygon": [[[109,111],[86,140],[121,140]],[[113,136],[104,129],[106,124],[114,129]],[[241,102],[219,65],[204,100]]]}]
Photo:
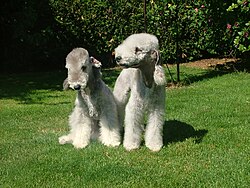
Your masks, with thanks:
[{"label": "greyer Bedlington terrier sitting on the grass, facing forward", "polygon": [[60,144],[86,147],[99,138],[106,146],[120,145],[120,126],[113,93],[101,79],[101,63],[89,57],[83,48],[73,49],[66,57],[68,86],[77,91],[75,107],[69,116],[70,133],[59,138]]}]

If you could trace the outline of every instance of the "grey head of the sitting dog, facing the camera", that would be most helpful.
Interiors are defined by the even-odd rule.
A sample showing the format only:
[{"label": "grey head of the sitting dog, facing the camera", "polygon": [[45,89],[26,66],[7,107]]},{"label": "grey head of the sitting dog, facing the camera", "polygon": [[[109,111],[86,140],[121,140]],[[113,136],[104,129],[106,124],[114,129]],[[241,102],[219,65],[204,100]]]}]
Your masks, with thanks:
[{"label": "grey head of the sitting dog, facing the camera", "polygon": [[84,90],[89,79],[95,76],[93,68],[99,69],[101,63],[89,57],[88,51],[84,48],[75,48],[67,55],[65,67],[68,69],[68,78],[64,81],[64,89],[68,85],[74,90]]}]

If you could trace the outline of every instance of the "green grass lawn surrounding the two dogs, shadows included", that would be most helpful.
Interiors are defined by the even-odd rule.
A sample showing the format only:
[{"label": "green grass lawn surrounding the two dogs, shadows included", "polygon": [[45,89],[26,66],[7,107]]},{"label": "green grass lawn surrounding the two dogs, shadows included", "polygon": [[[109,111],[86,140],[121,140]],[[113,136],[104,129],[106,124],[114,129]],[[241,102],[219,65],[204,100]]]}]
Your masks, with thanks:
[{"label": "green grass lawn surrounding the two dogs, shadows included", "polygon": [[75,98],[61,90],[66,73],[1,75],[0,187],[249,187],[250,74],[181,71],[158,153],[59,145]]}]

